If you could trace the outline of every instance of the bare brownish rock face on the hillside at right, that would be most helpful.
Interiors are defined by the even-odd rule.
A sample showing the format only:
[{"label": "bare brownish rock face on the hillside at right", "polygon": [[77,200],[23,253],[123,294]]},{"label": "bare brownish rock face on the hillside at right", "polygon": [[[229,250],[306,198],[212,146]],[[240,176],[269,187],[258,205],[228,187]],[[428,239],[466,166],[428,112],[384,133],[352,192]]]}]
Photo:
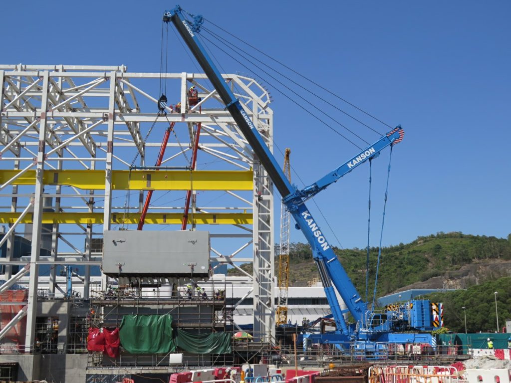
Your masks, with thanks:
[{"label": "bare brownish rock face on the hillside at right", "polygon": [[447,271],[442,276],[409,284],[396,292],[410,289],[467,289],[474,284],[509,276],[511,276],[510,261],[500,259],[474,261],[462,266],[459,270]]}]

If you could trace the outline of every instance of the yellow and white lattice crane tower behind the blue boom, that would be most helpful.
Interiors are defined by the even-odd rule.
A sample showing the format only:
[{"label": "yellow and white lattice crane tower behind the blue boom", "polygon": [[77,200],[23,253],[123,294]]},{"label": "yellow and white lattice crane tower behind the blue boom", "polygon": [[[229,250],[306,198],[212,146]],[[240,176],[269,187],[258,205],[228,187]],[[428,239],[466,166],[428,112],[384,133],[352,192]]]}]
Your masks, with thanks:
[{"label": "yellow and white lattice crane tower behind the blue boom", "polygon": [[[288,181],[291,183],[291,164],[289,157],[291,149],[286,148],[284,154],[284,174]],[[281,246],[280,254],[278,255],[278,305],[277,305],[277,326],[285,325],[287,323],[287,302],[288,302],[288,289],[289,289],[289,234],[291,214],[282,202],[281,205]]]}]

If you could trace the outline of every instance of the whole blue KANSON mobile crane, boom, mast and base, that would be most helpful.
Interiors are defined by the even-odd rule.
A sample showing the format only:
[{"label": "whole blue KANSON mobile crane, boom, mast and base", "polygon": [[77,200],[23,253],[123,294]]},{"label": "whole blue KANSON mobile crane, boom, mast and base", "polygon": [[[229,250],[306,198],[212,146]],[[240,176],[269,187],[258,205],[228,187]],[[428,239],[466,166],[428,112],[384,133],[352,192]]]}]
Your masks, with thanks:
[{"label": "whole blue KANSON mobile crane, boom, mast and base", "polygon": [[[386,343],[430,343],[434,346],[434,339],[430,333],[419,332],[430,331],[434,328],[431,320],[430,302],[414,300],[399,305],[395,309],[385,310],[384,313],[375,313],[372,308],[368,307],[367,302],[364,302],[360,297],[305,204],[306,200],[326,189],[332,183],[337,182],[345,174],[350,173],[362,163],[376,158],[386,147],[400,142],[404,135],[401,126],[392,129],[373,145],[363,149],[315,183],[301,190],[298,189],[288,181],[275,157],[265,145],[257,127],[254,126],[247,115],[242,103],[226,85],[217,67],[199,41],[197,34],[200,32],[204,21],[202,16],[192,17],[193,20],[189,21],[183,15],[181,7],[176,6],[170,11],[165,11],[163,21],[166,23],[172,22],[181,38],[188,45],[207,78],[218,92],[225,108],[233,116],[234,121],[265,167],[278,192],[283,196],[283,201],[296,222],[296,228],[304,233],[312,248],[314,261],[336,324],[334,332],[311,334],[312,341],[333,343],[346,351],[350,350],[350,347],[354,347],[356,351],[372,353],[375,356],[386,349]],[[346,312],[339,305],[334,287],[339,292],[355,323],[348,324],[346,322],[344,318]],[[403,332],[409,330],[415,332]]]}]

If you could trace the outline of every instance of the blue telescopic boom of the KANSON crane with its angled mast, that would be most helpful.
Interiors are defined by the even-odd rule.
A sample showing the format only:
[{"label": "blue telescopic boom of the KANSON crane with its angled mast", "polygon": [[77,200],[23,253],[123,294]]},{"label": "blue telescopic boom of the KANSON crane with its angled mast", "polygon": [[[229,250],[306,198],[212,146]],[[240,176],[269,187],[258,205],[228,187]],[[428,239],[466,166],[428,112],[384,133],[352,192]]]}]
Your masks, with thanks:
[{"label": "blue telescopic boom of the KANSON crane with its angled mast", "polygon": [[[304,233],[307,241],[311,245],[314,261],[318,267],[318,272],[323,283],[323,289],[332,310],[332,315],[335,319],[337,331],[342,332],[345,336],[350,335],[350,329],[344,320],[342,310],[335,294],[334,286],[341,295],[344,303],[350,310],[354,319],[359,322],[362,327],[366,327],[366,320],[368,317],[367,303],[364,302],[358,294],[351,279],[340,264],[337,255],[332,250],[331,246],[326,240],[326,237],[318,227],[316,221],[312,217],[312,214],[304,203],[304,197],[312,196],[317,193],[317,191],[324,189],[332,182],[335,182],[339,178],[337,173],[342,173],[342,170],[339,168],[339,172],[334,171],[330,173],[326,176],[326,182],[323,182],[323,179],[321,179],[318,181],[319,183],[317,183],[316,186],[311,185],[311,189],[306,188],[302,191],[295,190],[295,188],[286,178],[282,169],[278,166],[275,157],[273,157],[273,154],[265,145],[261,135],[257,130],[257,127],[253,125],[242,104],[238,99],[236,99],[233,92],[231,92],[227,87],[224,79],[220,75],[220,72],[202,47],[202,44],[197,37],[197,32],[200,30],[202,17],[196,16],[195,22],[192,24],[183,18],[181,8],[177,6],[171,11],[166,11],[163,20],[165,22],[174,23],[178,33],[190,48],[190,51],[199,62],[208,79],[210,79],[222,102],[225,103],[226,109],[233,116],[234,121],[236,124],[238,124],[239,129],[247,139],[254,153],[259,157],[259,160],[265,167],[268,175],[271,177],[275,187],[278,189],[278,192],[281,194],[281,196],[284,197],[284,202],[286,203],[288,210],[295,219],[297,227],[299,227],[300,230]],[[402,135],[398,132],[401,130],[401,128],[398,127],[396,129],[382,137],[384,145],[382,145],[379,150],[382,150],[386,146],[392,145],[394,142],[399,142],[398,139],[402,139]],[[364,161],[365,159],[376,157],[379,153],[379,150],[377,151],[375,148],[375,153],[370,153],[367,158],[364,158]],[[359,155],[362,156],[361,154]],[[360,163],[364,161],[360,161]],[[349,171],[350,170],[351,167]],[[343,174],[345,173],[347,172],[344,172]],[[335,177],[337,178],[334,179]]]}]

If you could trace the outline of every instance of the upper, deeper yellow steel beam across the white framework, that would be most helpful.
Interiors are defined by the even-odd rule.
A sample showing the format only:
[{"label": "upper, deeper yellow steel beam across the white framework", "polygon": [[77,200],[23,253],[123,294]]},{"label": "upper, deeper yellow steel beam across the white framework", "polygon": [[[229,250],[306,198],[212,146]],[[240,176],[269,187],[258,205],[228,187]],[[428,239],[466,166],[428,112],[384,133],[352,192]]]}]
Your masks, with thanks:
[{"label": "upper, deeper yellow steel beam across the white framework", "polygon": [[[19,170],[0,170],[0,184]],[[45,170],[45,185],[71,185],[80,189],[105,189],[104,170]],[[35,170],[15,179],[12,185],[35,185]],[[112,188],[116,190],[252,190],[251,171],[112,171]]]}]

